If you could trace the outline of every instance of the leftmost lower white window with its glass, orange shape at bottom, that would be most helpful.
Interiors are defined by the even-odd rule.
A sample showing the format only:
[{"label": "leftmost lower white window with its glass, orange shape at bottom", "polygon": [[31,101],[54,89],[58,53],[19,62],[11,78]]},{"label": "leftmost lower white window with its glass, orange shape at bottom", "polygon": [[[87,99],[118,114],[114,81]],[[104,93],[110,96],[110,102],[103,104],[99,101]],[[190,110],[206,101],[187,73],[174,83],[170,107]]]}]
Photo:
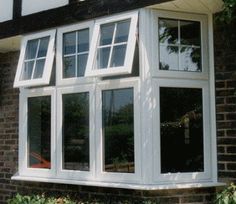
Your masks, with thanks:
[{"label": "leftmost lower white window with its glass, orange shape at bottom", "polygon": [[51,178],[55,161],[55,90],[21,89],[19,172],[22,176]]}]

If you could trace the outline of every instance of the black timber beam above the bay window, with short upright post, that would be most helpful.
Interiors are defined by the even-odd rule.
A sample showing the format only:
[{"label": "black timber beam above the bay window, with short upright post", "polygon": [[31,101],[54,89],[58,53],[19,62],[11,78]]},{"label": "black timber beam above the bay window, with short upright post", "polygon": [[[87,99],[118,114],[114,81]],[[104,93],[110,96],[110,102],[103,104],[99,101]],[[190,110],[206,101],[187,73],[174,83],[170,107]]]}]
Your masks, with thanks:
[{"label": "black timber beam above the bay window, with short upright post", "polygon": [[[18,1],[18,3],[16,3]],[[138,9],[171,0],[70,0],[66,6],[19,17],[0,23],[0,39],[80,22],[96,17]],[[21,0],[14,0],[19,9]],[[18,6],[17,6],[18,5]]]}]

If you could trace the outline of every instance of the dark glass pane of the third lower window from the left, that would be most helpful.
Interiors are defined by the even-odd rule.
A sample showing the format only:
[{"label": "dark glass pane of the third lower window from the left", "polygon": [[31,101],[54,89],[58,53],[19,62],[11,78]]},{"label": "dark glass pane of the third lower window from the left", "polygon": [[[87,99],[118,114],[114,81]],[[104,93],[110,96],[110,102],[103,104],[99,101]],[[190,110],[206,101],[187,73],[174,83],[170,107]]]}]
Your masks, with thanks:
[{"label": "dark glass pane of the third lower window from the left", "polygon": [[102,92],[104,171],[134,173],[133,89]]}]

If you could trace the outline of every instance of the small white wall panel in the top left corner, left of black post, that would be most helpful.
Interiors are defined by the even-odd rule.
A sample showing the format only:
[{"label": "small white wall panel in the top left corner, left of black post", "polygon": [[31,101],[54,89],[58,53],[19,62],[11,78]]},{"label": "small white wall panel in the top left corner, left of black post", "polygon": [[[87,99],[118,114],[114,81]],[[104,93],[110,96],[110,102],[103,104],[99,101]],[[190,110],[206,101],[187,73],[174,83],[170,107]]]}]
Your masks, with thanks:
[{"label": "small white wall panel in the top left corner, left of black post", "polygon": [[13,0],[0,0],[0,22],[11,20],[13,16]]}]

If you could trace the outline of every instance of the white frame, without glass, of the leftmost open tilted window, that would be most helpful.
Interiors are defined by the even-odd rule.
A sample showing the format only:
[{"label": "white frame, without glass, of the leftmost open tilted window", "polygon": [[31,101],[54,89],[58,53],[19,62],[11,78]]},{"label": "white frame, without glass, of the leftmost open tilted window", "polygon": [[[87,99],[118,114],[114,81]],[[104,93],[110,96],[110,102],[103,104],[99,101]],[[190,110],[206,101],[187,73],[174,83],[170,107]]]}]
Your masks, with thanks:
[{"label": "white frame, without glass, of the leftmost open tilted window", "polygon": [[[51,78],[52,67],[53,67],[53,61],[54,61],[54,53],[55,53],[55,50],[54,50],[55,35],[56,35],[56,30],[53,29],[53,30],[35,33],[32,35],[27,35],[23,37],[23,40],[21,43],[20,57],[19,57],[15,81],[14,81],[14,87],[29,87],[29,86],[40,86],[40,85],[49,84],[50,78]],[[45,58],[42,78],[21,80],[21,74],[24,69],[24,60],[25,60],[25,53],[26,53],[26,47],[27,47],[28,41],[47,37],[47,36],[49,36],[49,43],[48,43],[48,50],[47,50],[47,55]]]}]

